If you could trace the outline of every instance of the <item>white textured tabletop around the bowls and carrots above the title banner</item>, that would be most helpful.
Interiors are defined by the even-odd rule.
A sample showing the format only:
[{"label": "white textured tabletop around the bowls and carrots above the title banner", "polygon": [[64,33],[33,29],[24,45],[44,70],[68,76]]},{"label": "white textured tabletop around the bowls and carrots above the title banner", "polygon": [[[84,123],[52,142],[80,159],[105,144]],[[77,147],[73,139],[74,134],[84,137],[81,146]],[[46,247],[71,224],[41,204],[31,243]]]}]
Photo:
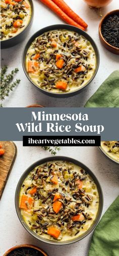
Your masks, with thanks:
[{"label": "white textured tabletop around the bowls and carrots above the title banner", "polygon": [[[3,105],[5,107],[24,107],[29,104],[41,104],[47,107],[84,106],[89,97],[92,96],[92,94],[111,74],[111,72],[115,69],[118,69],[118,56],[108,52],[100,43],[98,36],[98,25],[100,17],[94,10],[89,9],[83,0],[66,0],[72,9],[76,11],[82,18],[84,18],[84,20],[88,23],[87,32],[92,36],[99,48],[100,66],[94,80],[80,94],[67,99],[54,99],[42,94],[28,81],[22,69],[21,54],[30,36],[37,30],[48,25],[61,24],[64,22],[54,13],[48,10],[48,8],[39,3],[39,1],[33,0],[33,2],[35,7],[34,21],[32,28],[29,31],[28,37],[25,38],[22,44],[6,50],[2,50],[1,56],[4,59],[2,60],[2,65],[7,64],[9,66],[9,70],[12,70],[15,67],[19,67],[20,71],[17,76],[21,79],[20,85],[12,92],[11,96],[4,101]],[[106,14],[107,12],[118,8],[118,0],[113,0],[111,4],[102,10],[102,13]]]}]

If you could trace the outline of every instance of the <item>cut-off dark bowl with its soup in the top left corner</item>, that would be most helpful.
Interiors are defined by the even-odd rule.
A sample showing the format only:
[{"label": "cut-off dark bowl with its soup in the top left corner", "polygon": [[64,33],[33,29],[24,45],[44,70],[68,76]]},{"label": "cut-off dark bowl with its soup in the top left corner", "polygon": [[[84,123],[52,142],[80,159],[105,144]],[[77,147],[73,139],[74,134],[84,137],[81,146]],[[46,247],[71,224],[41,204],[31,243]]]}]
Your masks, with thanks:
[{"label": "cut-off dark bowl with its soup in the top left corner", "polygon": [[1,48],[12,47],[24,40],[33,21],[32,0],[1,1]]}]

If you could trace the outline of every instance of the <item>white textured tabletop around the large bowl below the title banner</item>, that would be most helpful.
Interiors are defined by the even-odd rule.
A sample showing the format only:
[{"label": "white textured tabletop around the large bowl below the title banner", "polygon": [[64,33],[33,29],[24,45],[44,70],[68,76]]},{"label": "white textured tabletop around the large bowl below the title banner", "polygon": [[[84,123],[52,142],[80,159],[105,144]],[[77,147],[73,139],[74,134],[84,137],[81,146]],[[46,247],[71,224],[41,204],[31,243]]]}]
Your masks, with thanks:
[{"label": "white textured tabletop around the large bowl below the title banner", "polygon": [[[52,246],[38,242],[22,227],[15,210],[15,190],[19,178],[33,162],[50,156],[50,153],[38,147],[22,147],[22,142],[15,142],[18,149],[17,158],[9,176],[0,204],[1,242],[0,255],[9,248],[23,243],[38,245],[49,256],[87,256],[91,234],[68,246]],[[87,165],[98,178],[104,195],[103,213],[119,194],[119,168],[106,159],[96,147],[62,147],[57,155],[75,158]]]}]

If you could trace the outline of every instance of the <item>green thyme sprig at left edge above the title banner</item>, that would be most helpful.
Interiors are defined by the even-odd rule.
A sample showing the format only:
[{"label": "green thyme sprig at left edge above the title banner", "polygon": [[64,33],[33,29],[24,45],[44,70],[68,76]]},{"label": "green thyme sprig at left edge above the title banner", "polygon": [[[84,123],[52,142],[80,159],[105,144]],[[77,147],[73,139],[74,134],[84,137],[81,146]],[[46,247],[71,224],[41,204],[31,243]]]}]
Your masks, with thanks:
[{"label": "green thyme sprig at left edge above the title banner", "polygon": [[[12,83],[14,76],[17,74],[19,69],[15,68],[10,74],[6,75],[7,70],[8,66],[6,65],[1,68],[1,101],[3,101],[5,97],[8,97],[9,93],[20,83],[20,79],[17,79]],[[1,107],[2,106],[3,105],[1,103]]]}]

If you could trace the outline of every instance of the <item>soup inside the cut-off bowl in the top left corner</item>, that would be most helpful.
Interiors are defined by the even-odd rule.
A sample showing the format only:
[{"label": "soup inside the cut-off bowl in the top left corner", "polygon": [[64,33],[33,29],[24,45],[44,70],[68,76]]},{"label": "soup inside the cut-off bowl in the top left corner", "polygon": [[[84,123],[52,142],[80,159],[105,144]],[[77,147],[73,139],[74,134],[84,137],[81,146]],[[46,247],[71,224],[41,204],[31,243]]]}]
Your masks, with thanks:
[{"label": "soup inside the cut-off bowl in the top left corner", "polygon": [[31,6],[28,0],[1,1],[1,40],[13,38],[29,23]]}]

